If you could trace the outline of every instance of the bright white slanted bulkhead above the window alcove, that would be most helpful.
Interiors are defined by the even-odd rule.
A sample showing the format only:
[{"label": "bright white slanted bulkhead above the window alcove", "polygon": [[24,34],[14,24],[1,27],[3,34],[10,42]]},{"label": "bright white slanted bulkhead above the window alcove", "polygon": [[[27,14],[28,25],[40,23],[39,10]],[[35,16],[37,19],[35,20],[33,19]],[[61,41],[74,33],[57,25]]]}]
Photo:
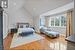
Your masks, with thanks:
[{"label": "bright white slanted bulkhead above the window alcove", "polygon": [[70,10],[74,8],[74,1],[69,3],[69,4],[66,4],[64,6],[61,6],[61,7],[58,7],[56,9],[53,9],[51,11],[48,11],[46,13],[43,13],[41,14],[40,16],[49,16],[49,15],[53,15],[53,14],[56,14],[56,13],[61,13],[61,12],[64,12],[64,11],[67,11],[67,10]]}]

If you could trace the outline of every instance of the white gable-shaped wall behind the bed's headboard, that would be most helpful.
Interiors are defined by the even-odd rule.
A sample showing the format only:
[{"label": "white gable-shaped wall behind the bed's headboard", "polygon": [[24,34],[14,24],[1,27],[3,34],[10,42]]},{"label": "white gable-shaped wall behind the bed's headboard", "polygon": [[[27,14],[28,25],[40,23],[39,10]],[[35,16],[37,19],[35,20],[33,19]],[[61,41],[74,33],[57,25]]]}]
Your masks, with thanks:
[{"label": "white gable-shaped wall behind the bed's headboard", "polygon": [[9,27],[14,27],[14,24],[18,22],[30,23],[32,25],[32,16],[30,16],[25,10],[19,9],[16,12],[10,14]]}]

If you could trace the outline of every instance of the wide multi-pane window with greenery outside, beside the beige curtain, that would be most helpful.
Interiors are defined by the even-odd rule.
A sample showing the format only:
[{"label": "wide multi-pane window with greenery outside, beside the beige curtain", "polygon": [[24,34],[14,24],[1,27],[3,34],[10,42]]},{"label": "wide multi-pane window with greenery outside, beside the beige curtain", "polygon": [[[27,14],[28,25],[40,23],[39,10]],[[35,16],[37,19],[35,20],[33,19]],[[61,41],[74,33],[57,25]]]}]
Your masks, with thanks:
[{"label": "wide multi-pane window with greenery outside, beside the beige curtain", "polygon": [[66,26],[66,16],[65,16],[65,14],[50,17],[49,26],[50,27]]}]

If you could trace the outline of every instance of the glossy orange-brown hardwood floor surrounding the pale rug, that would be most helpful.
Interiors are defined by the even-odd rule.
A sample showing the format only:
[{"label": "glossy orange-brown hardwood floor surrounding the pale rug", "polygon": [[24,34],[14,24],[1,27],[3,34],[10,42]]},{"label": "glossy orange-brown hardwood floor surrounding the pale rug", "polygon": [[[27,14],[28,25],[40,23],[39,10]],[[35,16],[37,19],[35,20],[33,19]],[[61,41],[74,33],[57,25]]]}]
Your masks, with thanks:
[{"label": "glossy orange-brown hardwood floor surrounding the pale rug", "polygon": [[51,39],[46,35],[39,35],[45,37],[45,39],[35,41],[19,47],[10,48],[13,34],[9,34],[7,38],[4,39],[4,50],[66,50],[67,44],[63,36]]}]

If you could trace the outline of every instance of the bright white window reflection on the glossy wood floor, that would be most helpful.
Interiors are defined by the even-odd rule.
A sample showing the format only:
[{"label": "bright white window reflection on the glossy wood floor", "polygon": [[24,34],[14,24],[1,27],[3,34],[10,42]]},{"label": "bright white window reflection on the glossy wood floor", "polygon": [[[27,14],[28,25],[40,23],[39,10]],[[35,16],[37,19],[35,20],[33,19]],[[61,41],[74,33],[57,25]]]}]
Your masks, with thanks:
[{"label": "bright white window reflection on the glossy wood floor", "polygon": [[61,42],[50,43],[49,46],[53,50],[67,50],[67,45]]}]

